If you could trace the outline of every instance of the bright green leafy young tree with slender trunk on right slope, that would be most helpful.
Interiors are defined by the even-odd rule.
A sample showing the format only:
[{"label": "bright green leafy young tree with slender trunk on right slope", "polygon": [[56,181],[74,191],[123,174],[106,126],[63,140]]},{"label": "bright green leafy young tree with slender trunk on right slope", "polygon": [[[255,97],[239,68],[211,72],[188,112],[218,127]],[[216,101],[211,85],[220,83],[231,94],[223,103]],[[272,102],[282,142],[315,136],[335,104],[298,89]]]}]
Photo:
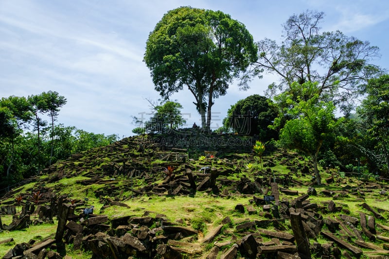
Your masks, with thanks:
[{"label": "bright green leafy young tree with slender trunk on right slope", "polygon": [[[312,158],[316,180],[321,185],[318,152],[323,142],[332,137],[336,122],[335,106],[331,102],[319,101],[316,83],[300,85],[295,82],[291,87],[300,94],[286,92],[275,97],[277,102],[284,102],[289,107],[280,111],[272,127],[278,128],[284,116],[290,118],[280,130],[280,142],[284,147],[298,149]],[[307,95],[311,98],[305,99]]]}]

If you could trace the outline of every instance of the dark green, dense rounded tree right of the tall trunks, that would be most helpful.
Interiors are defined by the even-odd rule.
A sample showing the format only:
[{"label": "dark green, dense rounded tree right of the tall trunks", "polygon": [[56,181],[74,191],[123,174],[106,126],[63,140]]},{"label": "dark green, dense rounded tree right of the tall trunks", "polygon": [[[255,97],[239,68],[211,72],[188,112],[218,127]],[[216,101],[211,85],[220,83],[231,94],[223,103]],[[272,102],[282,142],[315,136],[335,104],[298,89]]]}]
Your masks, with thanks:
[{"label": "dark green, dense rounded tree right of the tall trunks", "polygon": [[258,94],[239,100],[231,105],[227,117],[223,120],[223,125],[239,134],[258,135],[265,141],[276,139],[278,133],[267,127],[277,117],[277,110],[270,103],[272,103],[271,100]]}]

